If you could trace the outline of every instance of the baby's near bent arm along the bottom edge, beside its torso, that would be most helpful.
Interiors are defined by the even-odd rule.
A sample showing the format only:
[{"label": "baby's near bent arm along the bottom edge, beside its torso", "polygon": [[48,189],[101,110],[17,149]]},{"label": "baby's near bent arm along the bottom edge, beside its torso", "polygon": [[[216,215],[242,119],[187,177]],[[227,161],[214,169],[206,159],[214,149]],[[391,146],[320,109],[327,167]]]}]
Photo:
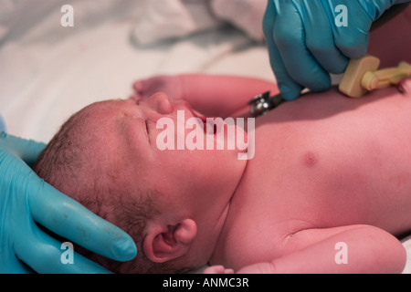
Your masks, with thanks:
[{"label": "baby's near bent arm along the bottom edge, beside its torso", "polygon": [[237,273],[401,273],[406,265],[403,245],[374,226],[303,230],[287,245],[298,251]]}]

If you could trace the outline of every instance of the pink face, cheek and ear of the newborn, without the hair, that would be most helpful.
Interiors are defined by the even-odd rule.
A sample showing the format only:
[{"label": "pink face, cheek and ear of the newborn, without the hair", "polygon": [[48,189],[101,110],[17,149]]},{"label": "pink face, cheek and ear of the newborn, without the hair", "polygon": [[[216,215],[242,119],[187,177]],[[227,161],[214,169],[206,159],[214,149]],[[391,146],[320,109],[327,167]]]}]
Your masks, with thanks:
[{"label": "pink face, cheek and ear of the newborn, without the hair", "polygon": [[[97,145],[90,147],[96,157],[121,157],[120,183],[142,193],[162,193],[158,198],[162,214],[148,224],[142,252],[163,262],[184,255],[190,246],[190,253],[202,255],[193,257],[195,264],[204,265],[214,251],[247,162],[237,160],[237,150],[160,151],[156,145],[162,131],[156,129],[159,119],[167,117],[177,124],[177,110],[184,111],[185,120],[196,117],[186,101],[170,100],[164,93],[144,100],[102,101],[85,110],[90,112],[88,125]],[[96,162],[108,167],[101,164],[103,160]],[[170,226],[175,226],[173,234],[168,233]],[[175,253],[168,255],[169,250]]]}]

